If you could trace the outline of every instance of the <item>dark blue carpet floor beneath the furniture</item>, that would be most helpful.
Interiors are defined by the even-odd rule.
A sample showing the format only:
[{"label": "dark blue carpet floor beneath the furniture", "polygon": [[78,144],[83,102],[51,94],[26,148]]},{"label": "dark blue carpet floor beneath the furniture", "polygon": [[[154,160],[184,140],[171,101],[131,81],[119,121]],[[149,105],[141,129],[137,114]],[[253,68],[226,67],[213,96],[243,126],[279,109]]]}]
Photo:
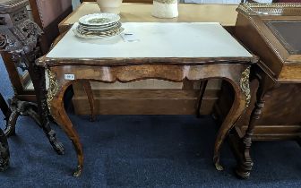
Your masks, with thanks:
[{"label": "dark blue carpet floor beneath the furniture", "polygon": [[[0,60],[0,92],[13,90]],[[294,141],[254,142],[254,171],[237,179],[228,144],[221,152],[225,171],[212,165],[217,125],[211,116],[70,114],[84,149],[82,176],[71,174],[76,155],[64,132],[52,124],[64,143],[56,155],[39,126],[27,117],[9,138],[11,167],[0,173],[0,187],[301,187],[301,150]],[[3,119],[0,113],[0,120]],[[4,126],[4,121],[0,121]]]}]

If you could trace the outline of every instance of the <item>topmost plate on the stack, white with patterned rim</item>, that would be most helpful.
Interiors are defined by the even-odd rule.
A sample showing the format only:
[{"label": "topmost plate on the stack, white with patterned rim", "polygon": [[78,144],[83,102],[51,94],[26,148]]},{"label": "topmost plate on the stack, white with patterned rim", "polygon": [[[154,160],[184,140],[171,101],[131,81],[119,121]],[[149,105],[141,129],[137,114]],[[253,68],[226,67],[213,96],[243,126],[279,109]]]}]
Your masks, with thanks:
[{"label": "topmost plate on the stack, white with patterned rim", "polygon": [[114,23],[120,20],[120,16],[115,13],[93,13],[82,16],[79,22],[85,26],[101,26]]}]

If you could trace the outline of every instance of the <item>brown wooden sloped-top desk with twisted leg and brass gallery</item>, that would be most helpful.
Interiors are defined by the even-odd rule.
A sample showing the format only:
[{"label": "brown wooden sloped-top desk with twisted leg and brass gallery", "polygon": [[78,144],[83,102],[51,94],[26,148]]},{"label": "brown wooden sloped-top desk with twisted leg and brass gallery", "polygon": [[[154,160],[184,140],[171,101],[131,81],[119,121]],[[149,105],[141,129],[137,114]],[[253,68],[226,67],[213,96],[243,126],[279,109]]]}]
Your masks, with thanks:
[{"label": "brown wooden sloped-top desk with twisted leg and brass gallery", "polygon": [[[251,105],[236,122],[230,143],[243,161],[236,173],[248,177],[254,141],[299,140],[301,133],[301,4],[241,4],[234,35],[260,62],[251,70]],[[257,90],[258,88],[258,90]],[[233,100],[222,85],[217,114],[228,112]],[[243,144],[237,140],[243,140]],[[240,142],[240,143],[242,143]],[[238,153],[238,152],[237,152]]]}]

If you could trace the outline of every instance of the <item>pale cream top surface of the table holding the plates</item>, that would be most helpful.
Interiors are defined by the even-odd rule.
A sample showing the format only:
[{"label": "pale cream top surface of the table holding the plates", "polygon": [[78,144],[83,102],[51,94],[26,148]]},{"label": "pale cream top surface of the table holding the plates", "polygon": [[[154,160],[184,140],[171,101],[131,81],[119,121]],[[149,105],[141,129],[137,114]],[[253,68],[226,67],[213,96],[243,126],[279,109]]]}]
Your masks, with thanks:
[{"label": "pale cream top surface of the table holding the plates", "polygon": [[[73,28],[77,26],[74,24]],[[83,39],[69,30],[47,54],[49,58],[136,57],[251,57],[219,23],[126,22],[125,33],[139,41],[121,37],[112,40]]]}]

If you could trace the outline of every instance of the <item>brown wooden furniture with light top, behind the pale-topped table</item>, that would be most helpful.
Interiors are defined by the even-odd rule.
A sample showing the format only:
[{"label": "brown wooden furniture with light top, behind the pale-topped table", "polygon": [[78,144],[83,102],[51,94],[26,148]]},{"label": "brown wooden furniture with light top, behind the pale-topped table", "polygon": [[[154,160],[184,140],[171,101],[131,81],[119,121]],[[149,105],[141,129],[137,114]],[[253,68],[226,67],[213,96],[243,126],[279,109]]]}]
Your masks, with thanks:
[{"label": "brown wooden furniture with light top, behind the pale-topped table", "polygon": [[[122,22],[219,22],[231,31],[236,23],[236,8],[237,4],[178,4],[178,17],[159,19],[151,16],[152,4],[123,3],[120,17]],[[96,2],[84,2],[59,24],[59,30],[64,33],[83,15],[99,11]],[[90,85],[98,115],[210,115],[220,92],[219,80],[208,81],[202,106],[196,107],[201,81],[149,79],[114,84],[91,81]],[[90,103],[83,89],[81,83],[73,84],[76,115],[90,115]]]}]

